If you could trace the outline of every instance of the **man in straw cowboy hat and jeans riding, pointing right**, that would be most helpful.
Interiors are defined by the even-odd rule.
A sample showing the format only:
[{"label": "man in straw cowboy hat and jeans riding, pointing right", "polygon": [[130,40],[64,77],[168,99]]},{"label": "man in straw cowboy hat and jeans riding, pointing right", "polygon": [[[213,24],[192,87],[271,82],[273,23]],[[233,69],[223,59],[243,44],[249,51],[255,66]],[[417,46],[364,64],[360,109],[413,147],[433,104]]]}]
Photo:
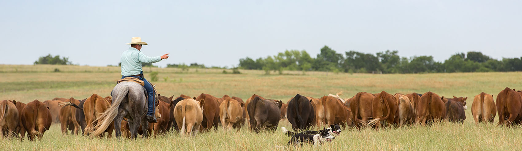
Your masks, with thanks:
[{"label": "man in straw cowboy hat and jeans riding, pointing right", "polygon": [[141,70],[141,63],[155,63],[159,62],[163,59],[169,58],[169,53],[163,54],[163,56],[158,57],[148,57],[143,52],[141,52],[141,46],[147,45],[145,42],[141,42],[140,37],[132,37],[131,43],[127,43],[127,45],[131,45],[131,48],[128,48],[127,51],[122,53],[122,79],[125,77],[135,77],[145,82],[145,89],[148,94],[148,111],[146,119],[149,122],[157,122],[156,117],[154,116],[154,110],[156,109],[154,100],[156,95],[154,94],[154,90],[152,85],[150,85],[149,81],[145,79],[143,76],[143,71]]}]

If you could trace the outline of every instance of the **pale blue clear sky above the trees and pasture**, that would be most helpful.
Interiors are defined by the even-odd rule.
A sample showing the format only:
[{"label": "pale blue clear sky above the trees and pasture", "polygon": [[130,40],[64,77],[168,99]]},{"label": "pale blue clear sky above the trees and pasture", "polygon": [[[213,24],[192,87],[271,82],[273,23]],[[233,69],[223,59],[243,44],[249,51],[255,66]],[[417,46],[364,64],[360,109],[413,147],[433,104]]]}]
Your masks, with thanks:
[{"label": "pale blue clear sky above the trees and pasture", "polygon": [[0,64],[48,53],[75,64],[120,62],[131,37],[155,63],[232,66],[287,49],[316,57],[398,50],[402,57],[481,51],[522,56],[522,1],[3,1]]}]

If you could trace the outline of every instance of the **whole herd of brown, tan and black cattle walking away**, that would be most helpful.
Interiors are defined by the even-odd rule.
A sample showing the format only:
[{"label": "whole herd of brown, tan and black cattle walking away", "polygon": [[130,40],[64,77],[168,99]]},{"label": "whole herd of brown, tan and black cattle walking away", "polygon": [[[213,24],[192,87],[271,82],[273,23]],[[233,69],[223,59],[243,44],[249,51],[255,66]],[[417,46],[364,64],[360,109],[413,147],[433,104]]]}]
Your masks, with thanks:
[{"label": "whole herd of brown, tan and black cattle walking away", "polygon": [[[297,94],[283,103],[256,94],[246,101],[229,95],[217,98],[205,93],[198,97],[182,94],[176,98],[158,94],[158,122],[151,123],[145,130],[139,128],[138,133],[157,135],[177,130],[181,134],[195,134],[212,127],[216,130],[218,125],[225,130],[239,129],[245,123],[250,130],[258,132],[261,129],[276,130],[281,119],[287,119],[294,130],[334,124],[343,128],[402,127],[445,119],[451,122],[466,119],[467,97],[445,98],[433,92],[392,95],[385,91],[375,94],[359,92],[349,99],[342,99],[339,95],[329,94],[317,99]],[[63,134],[67,134],[68,130],[78,134],[80,129],[82,133],[89,134],[96,125],[94,119],[111,105],[111,101],[112,97],[103,98],[98,94],[84,100],[54,98],[27,104],[14,100],[0,101],[0,132],[3,136],[16,136],[21,140],[27,132],[29,140],[41,139],[51,122],[60,122]],[[471,113],[476,123],[493,123],[498,113],[498,125],[519,124],[522,121],[522,91],[505,88],[497,94],[496,103],[493,95],[482,92],[474,96]],[[113,130],[113,125],[106,129],[108,138]],[[122,121],[122,132],[124,136],[129,136],[126,119]]]}]

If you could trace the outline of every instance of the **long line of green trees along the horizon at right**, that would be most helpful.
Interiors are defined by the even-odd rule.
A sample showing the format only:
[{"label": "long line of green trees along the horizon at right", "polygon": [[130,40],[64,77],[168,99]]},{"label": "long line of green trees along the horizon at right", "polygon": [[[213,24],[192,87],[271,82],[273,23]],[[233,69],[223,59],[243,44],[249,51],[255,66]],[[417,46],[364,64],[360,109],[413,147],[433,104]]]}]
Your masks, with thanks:
[{"label": "long line of green trees along the horizon at right", "polygon": [[347,51],[337,53],[328,46],[321,48],[316,58],[305,50],[286,50],[275,56],[246,57],[239,60],[239,67],[248,70],[270,71],[330,71],[347,73],[453,73],[453,72],[508,72],[522,71],[521,58],[492,59],[482,52],[456,53],[444,62],[432,56],[400,57],[397,50],[363,53]]}]

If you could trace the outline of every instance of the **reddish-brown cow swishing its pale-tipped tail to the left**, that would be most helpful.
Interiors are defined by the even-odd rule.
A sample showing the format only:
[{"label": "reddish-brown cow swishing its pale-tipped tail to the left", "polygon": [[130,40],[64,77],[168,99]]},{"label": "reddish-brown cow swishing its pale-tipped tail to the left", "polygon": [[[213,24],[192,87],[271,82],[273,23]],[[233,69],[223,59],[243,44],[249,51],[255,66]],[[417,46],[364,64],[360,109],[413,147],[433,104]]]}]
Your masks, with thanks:
[{"label": "reddish-brown cow swishing its pale-tipped tail to the left", "polygon": [[372,117],[370,125],[375,125],[376,128],[382,128],[386,125],[381,125],[381,120],[388,124],[396,124],[399,120],[399,106],[394,95],[385,91],[377,93],[372,100]]}]

